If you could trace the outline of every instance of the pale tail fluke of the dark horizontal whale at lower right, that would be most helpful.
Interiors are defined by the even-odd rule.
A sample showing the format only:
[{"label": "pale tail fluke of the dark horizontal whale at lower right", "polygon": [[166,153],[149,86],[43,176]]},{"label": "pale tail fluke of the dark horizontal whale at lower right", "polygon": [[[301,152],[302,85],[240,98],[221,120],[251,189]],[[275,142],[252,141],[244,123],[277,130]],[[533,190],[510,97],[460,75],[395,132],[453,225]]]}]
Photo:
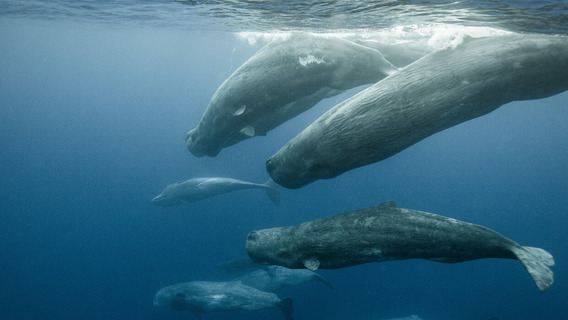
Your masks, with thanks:
[{"label": "pale tail fluke of the dark horizontal whale at lower right", "polygon": [[546,291],[554,283],[554,273],[549,267],[554,265],[554,258],[546,250],[534,247],[516,247],[513,253],[533,278],[540,291]]}]

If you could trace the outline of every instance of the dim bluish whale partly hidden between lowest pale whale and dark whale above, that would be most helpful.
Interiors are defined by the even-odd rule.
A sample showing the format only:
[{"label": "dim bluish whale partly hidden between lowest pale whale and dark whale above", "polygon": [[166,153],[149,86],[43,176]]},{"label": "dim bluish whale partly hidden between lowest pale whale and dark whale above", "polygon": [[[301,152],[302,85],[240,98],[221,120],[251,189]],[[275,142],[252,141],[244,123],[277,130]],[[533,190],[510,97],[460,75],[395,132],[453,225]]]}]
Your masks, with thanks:
[{"label": "dim bluish whale partly hidden between lowest pale whale and dark whale above", "polygon": [[333,285],[319,274],[305,269],[288,269],[281,266],[264,266],[259,270],[237,278],[247,286],[262,291],[276,292],[282,288],[310,281],[319,281],[333,288]]}]

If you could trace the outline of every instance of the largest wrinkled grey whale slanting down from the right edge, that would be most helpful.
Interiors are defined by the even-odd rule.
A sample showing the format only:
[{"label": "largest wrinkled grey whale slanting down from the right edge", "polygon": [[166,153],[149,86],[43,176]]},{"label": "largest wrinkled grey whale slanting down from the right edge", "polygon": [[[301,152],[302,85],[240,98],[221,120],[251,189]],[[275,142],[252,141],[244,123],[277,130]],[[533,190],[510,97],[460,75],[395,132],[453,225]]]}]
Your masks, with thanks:
[{"label": "largest wrinkled grey whale slanting down from the right edge", "polygon": [[568,89],[568,37],[468,38],[433,52],[324,113],[266,163],[300,188],[386,159],[515,101]]}]

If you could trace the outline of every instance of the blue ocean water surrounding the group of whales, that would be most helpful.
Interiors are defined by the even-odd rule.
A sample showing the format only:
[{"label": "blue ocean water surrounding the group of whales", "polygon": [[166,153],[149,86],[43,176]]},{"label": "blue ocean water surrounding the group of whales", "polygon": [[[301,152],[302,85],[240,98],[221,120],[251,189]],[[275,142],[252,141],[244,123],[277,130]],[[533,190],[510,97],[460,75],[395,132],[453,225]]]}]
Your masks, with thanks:
[{"label": "blue ocean water surrounding the group of whales", "polygon": [[[555,284],[539,292],[514,260],[319,270],[334,290],[314,283],[281,294],[294,298],[296,319],[568,318],[566,92],[509,103],[335,179],[282,188],[278,208],[259,190],[171,208],[150,203],[167,184],[195,176],[266,181],[268,157],[361,90],[215,158],[193,157],[185,132],[274,32],[443,25],[566,34],[562,1],[0,4],[1,319],[191,319],[155,310],[153,295],[178,282],[232,278],[214,266],[246,254],[251,230],[386,200],[544,248],[556,260]],[[282,319],[273,310],[204,315],[251,317]]]}]

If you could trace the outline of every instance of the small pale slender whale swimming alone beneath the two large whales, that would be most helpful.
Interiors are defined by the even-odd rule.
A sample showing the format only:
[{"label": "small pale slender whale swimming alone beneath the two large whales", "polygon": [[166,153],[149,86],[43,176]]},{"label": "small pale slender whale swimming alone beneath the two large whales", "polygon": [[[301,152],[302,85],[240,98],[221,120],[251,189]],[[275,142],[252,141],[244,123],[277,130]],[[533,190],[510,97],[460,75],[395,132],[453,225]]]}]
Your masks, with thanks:
[{"label": "small pale slender whale swimming alone beneath the two large whales", "polygon": [[254,188],[264,190],[275,205],[280,204],[280,190],[270,179],[265,184],[258,184],[220,177],[193,178],[170,184],[152,199],[152,203],[161,207],[171,207],[227,192]]}]

